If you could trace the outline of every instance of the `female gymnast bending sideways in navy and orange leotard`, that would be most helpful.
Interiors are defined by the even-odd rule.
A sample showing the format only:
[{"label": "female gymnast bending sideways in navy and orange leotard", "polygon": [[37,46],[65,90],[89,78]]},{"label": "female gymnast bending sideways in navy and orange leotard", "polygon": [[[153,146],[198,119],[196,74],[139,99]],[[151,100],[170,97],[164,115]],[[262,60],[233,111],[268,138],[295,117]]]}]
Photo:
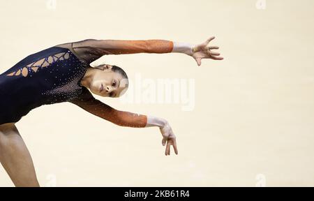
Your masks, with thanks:
[{"label": "female gymnast bending sideways in navy and orange leotard", "polygon": [[[201,65],[202,59],[221,60],[209,38],[199,45],[170,40],[95,40],[64,43],[31,54],[0,75],[0,162],[15,186],[39,186],[31,155],[15,123],[40,105],[69,102],[119,126],[157,126],[166,145],[178,154],[172,128],[165,119],[115,110],[98,101],[97,94],[119,97],[128,89],[124,70],[109,64],[91,67],[105,54],[188,54]],[[91,92],[90,92],[90,91]]]}]

